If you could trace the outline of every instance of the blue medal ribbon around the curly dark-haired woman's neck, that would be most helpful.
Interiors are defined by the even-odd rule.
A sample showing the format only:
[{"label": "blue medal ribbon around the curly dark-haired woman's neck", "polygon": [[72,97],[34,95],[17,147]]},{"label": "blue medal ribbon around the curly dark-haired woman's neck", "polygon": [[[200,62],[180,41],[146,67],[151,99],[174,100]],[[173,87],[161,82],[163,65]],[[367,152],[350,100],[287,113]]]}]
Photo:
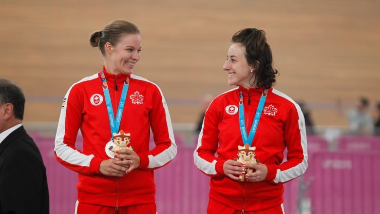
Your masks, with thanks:
[{"label": "blue medal ribbon around the curly dark-haired woman's neck", "polygon": [[240,132],[242,134],[243,138],[243,145],[248,144],[249,146],[252,145],[253,137],[256,134],[256,129],[257,126],[259,125],[259,120],[261,117],[261,113],[263,112],[264,109],[264,103],[266,100],[266,96],[268,95],[269,89],[265,89],[263,93],[261,94],[261,98],[259,101],[259,105],[257,106],[255,118],[253,119],[252,122],[252,128],[251,131],[249,132],[249,136],[247,135],[247,129],[246,129],[246,120],[244,118],[244,105],[243,105],[243,93],[240,91],[240,96],[239,96],[239,123],[240,123]]}]

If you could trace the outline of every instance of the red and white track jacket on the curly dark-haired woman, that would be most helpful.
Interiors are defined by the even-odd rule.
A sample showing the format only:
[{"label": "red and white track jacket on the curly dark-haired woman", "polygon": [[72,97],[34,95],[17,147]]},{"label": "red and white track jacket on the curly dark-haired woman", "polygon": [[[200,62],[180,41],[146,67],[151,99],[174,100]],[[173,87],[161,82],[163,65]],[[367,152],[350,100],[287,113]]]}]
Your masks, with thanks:
[{"label": "red and white track jacket on the curly dark-haired woman", "polygon": [[[221,94],[206,111],[194,162],[211,176],[211,198],[236,210],[257,211],[281,204],[283,183],[302,175],[307,168],[304,116],[290,97],[270,88],[252,142],[256,158],[266,164],[268,174],[260,182],[234,181],[224,175],[223,164],[237,157],[238,145],[243,146],[238,113],[240,91],[249,133],[263,89],[238,87]],[[287,161],[283,162],[285,148]]]}]

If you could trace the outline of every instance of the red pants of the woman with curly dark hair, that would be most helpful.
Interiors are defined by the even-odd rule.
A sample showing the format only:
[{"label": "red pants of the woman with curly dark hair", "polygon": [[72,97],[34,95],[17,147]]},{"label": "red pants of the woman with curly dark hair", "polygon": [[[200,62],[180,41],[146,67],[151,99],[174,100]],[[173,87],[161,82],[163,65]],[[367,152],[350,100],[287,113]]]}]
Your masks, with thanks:
[{"label": "red pants of the woman with curly dark hair", "polygon": [[[214,199],[209,199],[209,206],[207,207],[207,214],[241,214],[241,210],[235,210],[227,207],[224,204],[217,202]],[[284,205],[278,205],[260,211],[245,211],[244,214],[285,214]]]}]

